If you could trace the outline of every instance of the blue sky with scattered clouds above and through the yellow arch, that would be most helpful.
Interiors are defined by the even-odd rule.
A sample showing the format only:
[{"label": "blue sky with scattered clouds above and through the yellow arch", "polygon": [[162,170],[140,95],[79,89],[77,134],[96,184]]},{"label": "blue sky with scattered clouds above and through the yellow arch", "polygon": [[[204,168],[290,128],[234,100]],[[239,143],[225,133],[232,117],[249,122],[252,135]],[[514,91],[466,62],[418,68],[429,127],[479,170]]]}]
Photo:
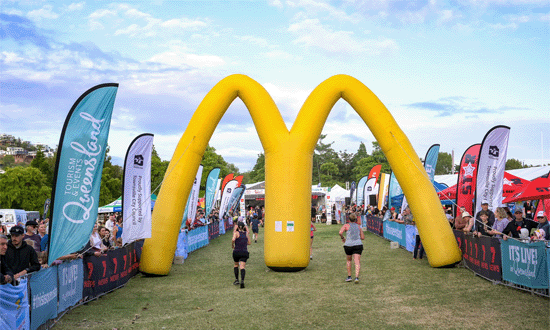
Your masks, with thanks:
[{"label": "blue sky with scattered clouds above and through the yellow arch", "polygon": [[[169,160],[208,91],[246,74],[290,128],[309,93],[349,74],[386,105],[423,157],[511,127],[508,158],[550,162],[550,4],[458,1],[0,2],[0,132],[55,146],[76,99],[120,84],[109,136],[119,164],[155,134]],[[374,137],[344,101],[323,133],[337,151]],[[241,171],[262,147],[236,100],[210,144]],[[544,147],[544,151],[542,150]]]}]

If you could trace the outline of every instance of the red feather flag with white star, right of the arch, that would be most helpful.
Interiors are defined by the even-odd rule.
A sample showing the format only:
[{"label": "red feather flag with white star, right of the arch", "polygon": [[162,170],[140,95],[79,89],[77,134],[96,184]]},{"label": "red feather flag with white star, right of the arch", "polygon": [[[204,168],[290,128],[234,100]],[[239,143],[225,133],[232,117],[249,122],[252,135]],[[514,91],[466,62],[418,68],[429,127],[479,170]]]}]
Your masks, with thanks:
[{"label": "red feather flag with white star, right of the arch", "polygon": [[[460,170],[458,171],[458,181],[456,185],[456,214],[460,212],[460,208],[464,207],[468,213],[473,214],[473,205],[474,197],[476,191],[476,176],[478,168],[478,159],[479,159],[479,149],[481,144],[474,144],[470,146],[462,159],[460,160]],[[473,214],[475,215],[475,214]]]}]

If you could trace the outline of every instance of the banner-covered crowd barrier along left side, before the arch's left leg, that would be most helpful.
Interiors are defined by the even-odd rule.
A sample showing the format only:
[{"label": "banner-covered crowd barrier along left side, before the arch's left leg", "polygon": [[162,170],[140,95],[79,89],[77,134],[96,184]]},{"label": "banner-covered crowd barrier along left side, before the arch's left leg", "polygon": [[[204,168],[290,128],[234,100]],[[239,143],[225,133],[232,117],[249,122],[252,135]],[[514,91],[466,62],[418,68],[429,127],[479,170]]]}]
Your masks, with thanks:
[{"label": "banner-covered crowd barrier along left side, before the arch's left leg", "polygon": [[43,268],[18,285],[0,286],[0,329],[38,329],[83,302],[119,288],[137,274],[143,241]]}]

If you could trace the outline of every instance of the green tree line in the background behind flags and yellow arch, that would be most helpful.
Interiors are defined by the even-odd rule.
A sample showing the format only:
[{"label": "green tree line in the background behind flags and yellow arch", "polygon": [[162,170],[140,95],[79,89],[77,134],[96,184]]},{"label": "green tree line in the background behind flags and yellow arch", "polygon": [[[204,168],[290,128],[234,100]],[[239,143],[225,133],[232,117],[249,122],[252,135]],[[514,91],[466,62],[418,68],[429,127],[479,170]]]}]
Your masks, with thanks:
[{"label": "green tree line in the background behind flags and yellow arch", "polygon": [[[346,186],[346,182],[359,181],[361,177],[369,174],[372,167],[382,165],[383,173],[390,173],[390,165],[382,152],[378,142],[372,142],[372,151],[369,154],[363,142],[355,153],[335,151],[332,147],[334,142],[325,143],[326,135],[321,135],[314,149],[312,166],[312,183],[321,183],[324,187],[332,187],[338,184]],[[5,158],[5,157],[4,157]],[[53,177],[57,152],[54,157],[46,158],[40,148],[36,157],[29,164],[6,164],[3,165],[5,173],[0,174],[0,208],[17,208],[24,210],[42,211],[44,201],[51,197]],[[151,158],[151,191],[158,194],[160,185],[168,168],[169,161],[162,160],[153,146]],[[203,197],[206,186],[206,179],[210,170],[220,168],[220,177],[234,173],[235,176],[243,175],[243,183],[249,184],[265,180],[265,155],[260,153],[256,164],[250,171],[240,172],[232,163],[216,153],[216,149],[207,146],[201,164],[203,175],[201,180],[201,195]],[[506,170],[531,167],[517,159],[506,161]],[[455,166],[455,173],[458,171]],[[445,152],[439,153],[436,175],[451,174],[451,155]],[[122,195],[123,169],[112,163],[109,155],[109,147],[105,153],[103,171],[101,177],[101,189],[99,205],[111,203]]]}]

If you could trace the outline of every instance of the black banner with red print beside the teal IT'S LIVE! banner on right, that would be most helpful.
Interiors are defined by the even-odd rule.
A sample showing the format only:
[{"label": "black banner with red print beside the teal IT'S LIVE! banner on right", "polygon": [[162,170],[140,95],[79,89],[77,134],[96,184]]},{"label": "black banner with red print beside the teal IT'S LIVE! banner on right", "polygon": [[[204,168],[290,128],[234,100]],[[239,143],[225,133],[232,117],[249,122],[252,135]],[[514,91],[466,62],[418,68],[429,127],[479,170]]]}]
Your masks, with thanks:
[{"label": "black banner with red print beside the teal IT'S LIVE! banner on right", "polygon": [[502,254],[498,238],[464,235],[454,230],[466,266],[493,281],[502,281]]}]

